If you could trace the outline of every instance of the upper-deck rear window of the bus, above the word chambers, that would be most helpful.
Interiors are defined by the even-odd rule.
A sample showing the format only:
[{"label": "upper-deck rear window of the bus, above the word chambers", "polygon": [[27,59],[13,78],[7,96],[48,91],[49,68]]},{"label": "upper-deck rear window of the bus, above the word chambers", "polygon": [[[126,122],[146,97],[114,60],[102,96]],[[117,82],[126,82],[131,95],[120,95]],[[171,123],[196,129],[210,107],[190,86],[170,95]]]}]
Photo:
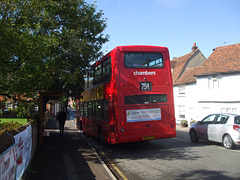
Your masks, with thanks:
[{"label": "upper-deck rear window of the bus, above the word chambers", "polygon": [[161,53],[125,53],[124,65],[126,68],[162,68],[163,56]]}]

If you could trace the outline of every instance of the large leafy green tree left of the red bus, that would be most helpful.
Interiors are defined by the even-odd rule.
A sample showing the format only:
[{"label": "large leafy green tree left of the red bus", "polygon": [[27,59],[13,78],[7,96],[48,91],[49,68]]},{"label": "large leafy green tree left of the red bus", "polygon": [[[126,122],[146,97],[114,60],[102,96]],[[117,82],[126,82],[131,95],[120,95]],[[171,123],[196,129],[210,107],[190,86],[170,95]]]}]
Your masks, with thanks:
[{"label": "large leafy green tree left of the red bus", "polygon": [[86,67],[108,41],[102,16],[84,0],[2,0],[0,94],[63,90],[79,98]]}]

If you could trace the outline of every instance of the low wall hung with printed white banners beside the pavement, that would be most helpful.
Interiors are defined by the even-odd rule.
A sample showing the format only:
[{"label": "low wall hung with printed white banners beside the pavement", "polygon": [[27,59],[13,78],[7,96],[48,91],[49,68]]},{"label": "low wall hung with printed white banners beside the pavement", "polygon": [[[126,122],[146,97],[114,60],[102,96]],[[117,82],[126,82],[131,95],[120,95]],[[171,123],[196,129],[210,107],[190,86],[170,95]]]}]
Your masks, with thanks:
[{"label": "low wall hung with printed white banners beside the pavement", "polygon": [[37,144],[37,122],[0,135],[0,179],[20,179]]}]

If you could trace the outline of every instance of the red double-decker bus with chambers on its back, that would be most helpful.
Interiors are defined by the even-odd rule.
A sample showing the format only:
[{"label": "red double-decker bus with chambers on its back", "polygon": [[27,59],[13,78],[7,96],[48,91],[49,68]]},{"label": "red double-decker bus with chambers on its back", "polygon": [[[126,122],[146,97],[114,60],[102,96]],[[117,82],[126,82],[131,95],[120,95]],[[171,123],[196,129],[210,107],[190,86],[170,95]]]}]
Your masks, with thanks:
[{"label": "red double-decker bus with chambers on its back", "polygon": [[77,110],[84,133],[109,144],[176,136],[168,48],[116,47],[85,80]]}]

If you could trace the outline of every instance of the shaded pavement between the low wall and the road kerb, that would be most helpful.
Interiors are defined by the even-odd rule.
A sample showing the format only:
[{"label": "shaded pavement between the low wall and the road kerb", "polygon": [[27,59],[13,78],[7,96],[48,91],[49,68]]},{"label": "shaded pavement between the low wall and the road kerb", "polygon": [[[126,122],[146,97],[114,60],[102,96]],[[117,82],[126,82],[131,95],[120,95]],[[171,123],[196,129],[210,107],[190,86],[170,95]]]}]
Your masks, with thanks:
[{"label": "shaded pavement between the low wall and the road kerb", "polygon": [[22,179],[115,179],[72,120],[66,121],[62,136],[58,128],[56,118],[50,118],[45,128],[43,144],[37,148],[28,171]]}]

